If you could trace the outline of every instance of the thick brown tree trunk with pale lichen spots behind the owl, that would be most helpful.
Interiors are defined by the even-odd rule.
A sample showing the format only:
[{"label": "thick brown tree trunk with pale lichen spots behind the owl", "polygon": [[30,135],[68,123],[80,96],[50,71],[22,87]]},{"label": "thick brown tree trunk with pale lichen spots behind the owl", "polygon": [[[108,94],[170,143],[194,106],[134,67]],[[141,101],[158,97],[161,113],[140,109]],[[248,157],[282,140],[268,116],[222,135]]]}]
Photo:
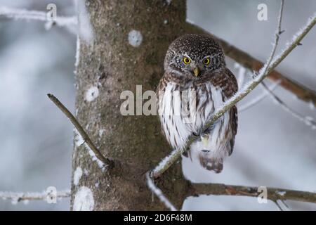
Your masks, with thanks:
[{"label": "thick brown tree trunk with pale lichen spots behind the owl", "polygon": [[[156,89],[166,50],[185,29],[185,1],[168,2],[86,1],[94,37],[80,42],[77,118],[114,167],[103,171],[84,145],[74,146],[72,210],[166,210],[152,200],[145,172],[171,148],[157,116],[121,115],[120,94]],[[180,163],[156,183],[180,208],[188,188]]]}]

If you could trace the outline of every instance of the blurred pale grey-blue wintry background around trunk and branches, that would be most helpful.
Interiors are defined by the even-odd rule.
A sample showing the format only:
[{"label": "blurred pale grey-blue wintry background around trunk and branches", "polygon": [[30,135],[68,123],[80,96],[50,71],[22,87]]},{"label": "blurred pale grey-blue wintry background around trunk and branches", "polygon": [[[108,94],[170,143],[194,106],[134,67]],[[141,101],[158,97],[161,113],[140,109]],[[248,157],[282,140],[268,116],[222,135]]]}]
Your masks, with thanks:
[{"label": "blurred pale grey-blue wintry background around trunk and branches", "polygon": [[[0,0],[0,6],[75,15],[73,1]],[[268,6],[268,20],[257,19],[258,4]],[[187,19],[265,61],[270,56],[279,1],[188,0]],[[287,0],[279,49],[316,11],[316,1]],[[312,30],[277,68],[316,89],[316,30]],[[40,21],[0,17],[0,191],[37,192],[48,186],[70,188],[72,125],[46,97],[53,93],[74,111],[76,35],[62,27],[46,30]],[[235,75],[239,68],[228,58]],[[270,84],[267,82],[267,84]],[[260,87],[240,105],[262,93]],[[302,115],[315,118],[310,104],[281,87],[275,94]],[[184,159],[183,171],[195,182],[273,186],[316,192],[316,130],[297,120],[271,98],[239,113],[234,153],[221,174],[206,172]],[[316,210],[316,204],[287,201],[290,210]],[[0,200],[0,210],[69,210],[69,199],[48,204],[30,201],[13,205]],[[200,196],[185,200],[183,210],[277,210],[256,198]]]}]

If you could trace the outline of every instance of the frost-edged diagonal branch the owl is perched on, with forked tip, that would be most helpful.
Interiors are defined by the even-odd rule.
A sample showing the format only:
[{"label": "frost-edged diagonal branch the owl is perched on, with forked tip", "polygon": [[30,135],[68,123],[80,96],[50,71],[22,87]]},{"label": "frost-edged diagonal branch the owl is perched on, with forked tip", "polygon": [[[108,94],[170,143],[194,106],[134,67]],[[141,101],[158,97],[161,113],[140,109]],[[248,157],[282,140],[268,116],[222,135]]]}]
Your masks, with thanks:
[{"label": "frost-edged diagonal branch the owl is perched on, with forked tip", "polygon": [[[223,105],[220,108],[215,110],[215,112],[209,117],[208,122],[204,125],[204,127],[202,127],[201,131],[204,131],[205,129],[210,127],[211,124],[213,124],[213,122],[216,122],[216,120],[218,120],[218,118],[220,118],[227,110],[232,108],[233,105],[241,101],[242,98],[244,98],[252,90],[254,90],[254,88],[258,86],[258,84],[260,84],[263,81],[263,79],[265,79],[265,77],[267,77],[268,74],[272,72],[272,70],[274,70],[277,67],[277,65],[279,65],[279,63],[281,63],[282,60],[284,60],[284,58],[286,58],[289,55],[289,53],[291,53],[291,51],[293,51],[293,49],[295,49],[296,46],[300,44],[303,37],[305,37],[305,35],[308,34],[308,32],[312,29],[315,23],[316,23],[316,13],[312,15],[312,17],[309,18],[308,23],[294,35],[293,39],[289,42],[289,44],[287,44],[286,48],[278,56],[273,58],[273,56],[275,55],[275,49],[277,47],[278,36],[280,34],[280,28],[278,24],[277,32],[275,36],[276,37],[275,44],[273,44],[272,53],[270,54],[270,57],[268,58],[267,63],[263,65],[263,68],[259,70],[258,74],[254,75],[253,79],[251,79],[249,82],[246,82],[246,84],[242,87],[242,89],[237,91],[237,93],[234,96],[228,99],[228,101],[225,101],[225,103],[223,103]],[[189,148],[190,145],[194,141],[196,141],[196,139],[197,139],[197,136],[191,135],[187,139],[187,143],[185,144],[184,148],[176,149],[171,155],[168,156],[168,158],[164,159],[163,160],[164,165],[159,164],[158,169],[155,168],[153,170],[152,176],[154,178],[157,178],[158,176],[162,175],[166,171],[166,169],[168,169],[171,165],[173,165],[174,162],[178,160],[178,158],[180,158],[180,155],[185,150],[187,150],[187,148]]]}]

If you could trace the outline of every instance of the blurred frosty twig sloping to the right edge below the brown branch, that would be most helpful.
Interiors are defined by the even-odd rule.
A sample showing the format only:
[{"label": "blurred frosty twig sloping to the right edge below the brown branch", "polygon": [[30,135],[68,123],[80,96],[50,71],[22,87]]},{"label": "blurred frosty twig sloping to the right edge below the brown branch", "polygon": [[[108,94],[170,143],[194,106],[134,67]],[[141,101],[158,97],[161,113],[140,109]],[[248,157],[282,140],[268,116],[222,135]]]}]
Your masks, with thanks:
[{"label": "blurred frosty twig sloping to the right edge below the brown branch", "polygon": [[296,112],[296,110],[291,109],[286,103],[284,103],[284,101],[282,101],[281,98],[279,98],[276,94],[274,94],[264,82],[261,82],[261,85],[263,86],[263,89],[265,89],[265,92],[272,98],[272,100],[277,105],[279,105],[287,113],[294,116],[296,119],[300,120],[301,122],[304,122],[307,126],[311,127],[313,130],[316,129],[316,120],[314,120],[312,117],[301,115],[301,113],[298,113]]}]

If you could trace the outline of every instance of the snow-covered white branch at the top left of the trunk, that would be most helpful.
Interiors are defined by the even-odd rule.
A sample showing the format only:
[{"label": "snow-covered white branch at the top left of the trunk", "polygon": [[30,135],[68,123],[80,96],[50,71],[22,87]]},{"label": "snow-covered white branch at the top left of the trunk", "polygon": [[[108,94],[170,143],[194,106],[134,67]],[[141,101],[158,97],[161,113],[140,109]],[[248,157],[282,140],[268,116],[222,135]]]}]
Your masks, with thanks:
[{"label": "snow-covered white branch at the top left of the trunk", "polygon": [[75,16],[58,16],[56,18],[51,18],[44,11],[28,11],[19,8],[8,8],[6,6],[0,6],[0,18],[11,18],[15,20],[39,20],[46,22],[47,29],[51,28],[52,25],[58,25],[59,27],[77,26],[77,18]]}]

